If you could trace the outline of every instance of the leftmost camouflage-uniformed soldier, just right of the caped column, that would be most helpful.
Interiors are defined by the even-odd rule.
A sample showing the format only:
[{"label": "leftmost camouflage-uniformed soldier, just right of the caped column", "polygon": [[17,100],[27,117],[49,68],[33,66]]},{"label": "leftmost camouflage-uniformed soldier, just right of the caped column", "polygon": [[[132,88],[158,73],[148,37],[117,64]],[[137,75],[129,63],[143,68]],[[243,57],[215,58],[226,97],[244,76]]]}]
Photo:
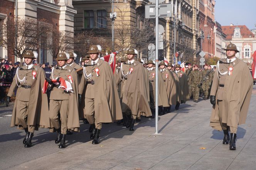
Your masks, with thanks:
[{"label": "leftmost camouflage-uniformed soldier, just right of the caped column", "polygon": [[198,70],[198,66],[194,65],[194,71],[190,73],[189,82],[191,82],[191,90],[194,98],[194,102],[198,102],[200,82],[202,80],[202,74]]}]

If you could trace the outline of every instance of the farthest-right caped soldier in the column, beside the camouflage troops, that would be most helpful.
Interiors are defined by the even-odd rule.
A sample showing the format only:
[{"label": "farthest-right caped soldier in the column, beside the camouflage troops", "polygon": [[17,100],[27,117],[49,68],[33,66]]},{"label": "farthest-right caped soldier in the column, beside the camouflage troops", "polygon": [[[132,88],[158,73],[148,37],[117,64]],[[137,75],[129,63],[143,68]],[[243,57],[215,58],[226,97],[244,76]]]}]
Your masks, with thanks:
[{"label": "farthest-right caped soldier in the column, beside the camouflage troops", "polygon": [[180,103],[186,103],[186,101],[189,100],[189,85],[186,73],[182,72],[180,68],[179,64],[175,65],[175,73],[178,75],[180,80]]}]

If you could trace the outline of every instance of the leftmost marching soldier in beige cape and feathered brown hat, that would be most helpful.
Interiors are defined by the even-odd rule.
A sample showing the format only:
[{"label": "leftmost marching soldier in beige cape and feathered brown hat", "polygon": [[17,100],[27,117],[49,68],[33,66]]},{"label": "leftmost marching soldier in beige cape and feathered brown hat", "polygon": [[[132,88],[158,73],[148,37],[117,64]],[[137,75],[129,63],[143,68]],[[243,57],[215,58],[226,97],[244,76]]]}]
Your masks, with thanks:
[{"label": "leftmost marching soldier in beige cape and feathered brown hat", "polygon": [[12,112],[11,127],[17,126],[26,132],[23,143],[25,148],[32,146],[31,140],[34,131],[39,127],[50,127],[48,115],[47,95],[42,92],[45,81],[45,73],[38,65],[33,64],[37,53],[27,51],[22,56],[25,65],[18,67],[12,85],[7,94],[6,105],[8,107],[13,91],[17,89],[17,95]]}]

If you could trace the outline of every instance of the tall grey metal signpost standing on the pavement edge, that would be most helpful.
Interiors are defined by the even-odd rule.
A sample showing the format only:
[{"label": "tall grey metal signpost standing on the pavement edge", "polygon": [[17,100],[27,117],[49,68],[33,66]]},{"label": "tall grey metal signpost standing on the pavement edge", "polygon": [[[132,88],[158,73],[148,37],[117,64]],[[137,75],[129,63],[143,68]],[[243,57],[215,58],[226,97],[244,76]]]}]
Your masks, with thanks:
[{"label": "tall grey metal signpost standing on the pavement edge", "polygon": [[159,0],[156,0],[155,10],[155,134],[158,134],[158,13]]}]

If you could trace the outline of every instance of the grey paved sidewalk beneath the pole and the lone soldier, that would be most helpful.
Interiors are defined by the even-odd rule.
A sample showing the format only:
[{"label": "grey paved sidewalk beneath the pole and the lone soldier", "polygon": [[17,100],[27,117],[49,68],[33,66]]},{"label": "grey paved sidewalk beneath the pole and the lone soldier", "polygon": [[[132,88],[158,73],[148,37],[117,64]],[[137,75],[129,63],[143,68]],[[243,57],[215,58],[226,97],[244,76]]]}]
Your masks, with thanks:
[{"label": "grey paved sidewalk beneath the pole and the lone soldier", "polygon": [[155,120],[151,120],[135,125],[134,132],[123,129],[101,136],[99,145],[91,141],[70,145],[10,169],[255,169],[255,100],[254,89],[246,124],[238,128],[235,151],[222,145],[223,132],[209,127],[210,101],[188,101],[187,107],[160,117],[162,135],[153,135]]}]

